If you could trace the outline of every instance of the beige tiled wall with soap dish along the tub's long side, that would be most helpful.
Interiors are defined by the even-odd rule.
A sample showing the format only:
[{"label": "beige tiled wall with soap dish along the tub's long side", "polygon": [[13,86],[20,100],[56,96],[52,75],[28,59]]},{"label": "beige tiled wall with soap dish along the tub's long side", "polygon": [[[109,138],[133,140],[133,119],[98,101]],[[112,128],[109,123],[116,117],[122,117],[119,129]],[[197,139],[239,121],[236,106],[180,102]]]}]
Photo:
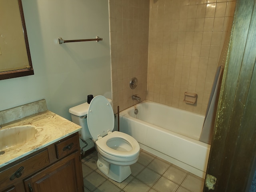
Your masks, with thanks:
[{"label": "beige tiled wall with soap dish along the tub's long side", "polygon": [[[150,0],[147,99],[205,114],[233,0]],[[183,102],[184,92],[197,104]]]}]

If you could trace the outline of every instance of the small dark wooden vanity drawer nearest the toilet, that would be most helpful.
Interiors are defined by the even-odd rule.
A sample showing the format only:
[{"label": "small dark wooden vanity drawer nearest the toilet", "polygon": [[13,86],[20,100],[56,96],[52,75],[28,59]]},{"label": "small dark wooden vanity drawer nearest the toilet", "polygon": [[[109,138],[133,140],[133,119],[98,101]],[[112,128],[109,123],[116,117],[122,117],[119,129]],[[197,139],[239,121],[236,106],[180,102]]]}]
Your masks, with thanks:
[{"label": "small dark wooden vanity drawer nearest the toilet", "polygon": [[79,148],[79,143],[78,143],[78,136],[77,134],[66,138],[64,140],[60,140],[58,143],[55,144],[55,149],[56,149],[56,157],[62,158]]}]

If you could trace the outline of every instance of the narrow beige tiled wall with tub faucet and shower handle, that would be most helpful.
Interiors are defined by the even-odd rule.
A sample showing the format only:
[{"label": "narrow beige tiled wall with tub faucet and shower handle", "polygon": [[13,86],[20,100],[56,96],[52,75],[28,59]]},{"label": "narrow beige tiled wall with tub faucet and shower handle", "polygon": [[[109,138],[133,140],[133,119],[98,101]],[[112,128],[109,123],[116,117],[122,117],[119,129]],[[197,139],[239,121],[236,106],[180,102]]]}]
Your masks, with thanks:
[{"label": "narrow beige tiled wall with tub faucet and shower handle", "polygon": [[[149,0],[109,0],[112,100],[124,110],[146,99],[148,67]],[[138,86],[130,89],[132,77]]]}]

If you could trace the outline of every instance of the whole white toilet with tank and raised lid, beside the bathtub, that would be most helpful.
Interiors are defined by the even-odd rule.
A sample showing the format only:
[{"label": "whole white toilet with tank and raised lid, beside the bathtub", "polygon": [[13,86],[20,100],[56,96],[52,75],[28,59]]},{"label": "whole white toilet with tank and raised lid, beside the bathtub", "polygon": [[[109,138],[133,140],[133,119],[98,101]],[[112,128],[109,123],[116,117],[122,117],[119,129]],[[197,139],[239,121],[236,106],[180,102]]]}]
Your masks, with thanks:
[{"label": "whole white toilet with tank and raised lid, beside the bathtub", "polygon": [[[83,140],[92,138],[98,151],[98,169],[117,182],[130,174],[130,165],[139,158],[140,146],[130,135],[114,131],[114,112],[104,96],[96,96],[90,104],[69,109],[72,121],[82,126]],[[86,118],[87,115],[87,118]]]}]

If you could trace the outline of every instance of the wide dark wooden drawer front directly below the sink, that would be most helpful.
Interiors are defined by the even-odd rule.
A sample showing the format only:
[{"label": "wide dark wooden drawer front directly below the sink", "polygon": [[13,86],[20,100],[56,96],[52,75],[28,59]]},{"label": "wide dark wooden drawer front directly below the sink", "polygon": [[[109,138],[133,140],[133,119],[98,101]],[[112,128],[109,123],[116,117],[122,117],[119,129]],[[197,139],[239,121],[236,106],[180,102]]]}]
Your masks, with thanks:
[{"label": "wide dark wooden drawer front directly below the sink", "polygon": [[[15,162],[13,166],[10,165],[9,168],[0,172],[0,189],[13,185],[49,164],[50,160],[47,148],[36,152],[32,156],[28,156],[28,158],[22,159],[20,162]],[[15,173],[16,176],[14,176]]]}]

